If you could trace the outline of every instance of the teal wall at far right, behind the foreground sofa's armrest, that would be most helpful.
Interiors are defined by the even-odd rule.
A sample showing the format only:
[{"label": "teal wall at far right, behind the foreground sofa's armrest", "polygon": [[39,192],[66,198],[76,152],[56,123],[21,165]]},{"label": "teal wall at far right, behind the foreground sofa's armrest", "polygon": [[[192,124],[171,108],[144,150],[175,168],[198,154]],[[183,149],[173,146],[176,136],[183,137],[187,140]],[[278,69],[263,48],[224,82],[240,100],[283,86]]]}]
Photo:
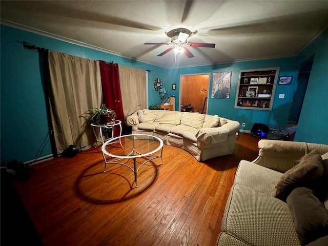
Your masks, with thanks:
[{"label": "teal wall at far right, behind the foreground sofa's armrest", "polygon": [[297,58],[301,64],[313,55],[315,55],[314,61],[295,141],[328,144],[328,29],[306,47]]}]

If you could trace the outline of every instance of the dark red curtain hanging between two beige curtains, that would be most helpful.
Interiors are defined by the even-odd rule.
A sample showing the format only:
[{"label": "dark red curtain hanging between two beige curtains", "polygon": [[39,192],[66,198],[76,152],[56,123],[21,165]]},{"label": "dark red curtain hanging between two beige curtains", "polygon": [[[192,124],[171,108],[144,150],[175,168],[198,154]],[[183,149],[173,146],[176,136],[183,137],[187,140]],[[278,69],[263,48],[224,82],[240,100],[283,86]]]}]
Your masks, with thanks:
[{"label": "dark red curtain hanging between two beige curtains", "polygon": [[125,130],[118,65],[114,63],[106,63],[103,60],[100,60],[99,62],[101,87],[103,88],[103,104],[105,104],[107,108],[115,110],[116,119],[122,121],[122,129]]}]

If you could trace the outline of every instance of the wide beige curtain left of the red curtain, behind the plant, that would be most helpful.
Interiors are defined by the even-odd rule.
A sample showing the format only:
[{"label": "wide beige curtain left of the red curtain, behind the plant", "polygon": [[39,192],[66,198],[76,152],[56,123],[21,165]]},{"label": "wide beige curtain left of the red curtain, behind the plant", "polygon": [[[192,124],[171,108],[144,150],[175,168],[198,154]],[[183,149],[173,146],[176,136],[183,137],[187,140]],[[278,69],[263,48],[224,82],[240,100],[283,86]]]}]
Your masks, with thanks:
[{"label": "wide beige curtain left of the red curtain, behind the plant", "polygon": [[57,153],[70,145],[90,148],[89,109],[101,104],[99,61],[49,51],[50,111]]}]

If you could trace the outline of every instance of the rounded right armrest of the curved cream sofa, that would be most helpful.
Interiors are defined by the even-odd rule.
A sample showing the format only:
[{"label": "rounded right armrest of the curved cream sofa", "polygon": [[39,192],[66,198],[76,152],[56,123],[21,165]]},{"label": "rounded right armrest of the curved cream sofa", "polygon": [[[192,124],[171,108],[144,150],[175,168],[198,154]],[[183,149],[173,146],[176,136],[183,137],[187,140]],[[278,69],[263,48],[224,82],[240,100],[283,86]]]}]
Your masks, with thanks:
[{"label": "rounded right armrest of the curved cream sofa", "polygon": [[240,124],[238,121],[228,120],[226,124],[221,127],[201,128],[196,133],[198,141],[207,145],[217,144],[224,142],[228,136],[235,135],[239,131]]}]

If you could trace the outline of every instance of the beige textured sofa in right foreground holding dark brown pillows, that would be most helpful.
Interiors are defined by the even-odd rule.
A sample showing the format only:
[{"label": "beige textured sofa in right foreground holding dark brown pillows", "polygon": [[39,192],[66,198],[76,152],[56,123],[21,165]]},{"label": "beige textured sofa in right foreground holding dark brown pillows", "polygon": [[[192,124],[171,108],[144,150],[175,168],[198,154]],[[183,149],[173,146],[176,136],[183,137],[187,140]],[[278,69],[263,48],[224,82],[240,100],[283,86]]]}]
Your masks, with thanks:
[{"label": "beige textured sofa in right foreground holding dark brown pillows", "polygon": [[[310,240],[309,244],[302,245],[328,245],[328,145],[262,139],[258,147],[259,155],[254,161],[241,160],[239,163],[222,218],[217,245],[301,245],[300,234],[296,228],[301,227],[304,231],[307,229],[306,223],[311,223],[310,228],[314,231],[306,231],[308,236],[315,236],[320,231],[316,228],[317,222],[311,221],[315,218],[312,213],[316,211],[321,211],[319,217],[322,216],[325,222],[320,223],[325,223],[324,230],[327,235],[321,235],[316,240],[312,238],[314,241]],[[313,199],[318,200],[317,197],[320,197],[322,203],[318,200],[320,204],[316,203],[314,209],[308,209],[308,200],[300,197],[299,202],[294,202],[294,207],[291,207],[292,198],[297,198],[297,191],[307,188],[294,188],[284,201],[275,197],[275,187],[281,177],[287,174],[284,174],[286,171],[295,170],[292,168],[300,159],[314,149],[317,150],[319,158],[322,158],[322,176],[318,180],[299,183],[297,187],[317,184],[313,186],[316,189],[312,189],[315,195],[312,190],[309,191]],[[309,201],[312,201],[311,199]],[[295,212],[295,207],[302,212]]]}]

